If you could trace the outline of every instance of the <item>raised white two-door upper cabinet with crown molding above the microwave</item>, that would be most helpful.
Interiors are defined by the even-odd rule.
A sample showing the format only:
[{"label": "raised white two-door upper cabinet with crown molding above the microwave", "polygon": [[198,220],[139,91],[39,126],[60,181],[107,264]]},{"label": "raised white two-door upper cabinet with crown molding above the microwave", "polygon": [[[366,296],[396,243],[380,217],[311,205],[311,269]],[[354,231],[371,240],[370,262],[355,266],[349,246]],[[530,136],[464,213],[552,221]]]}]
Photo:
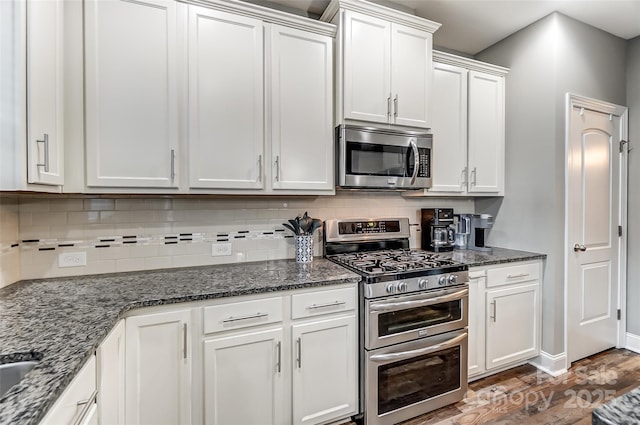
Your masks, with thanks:
[{"label": "raised white two-door upper cabinet with crown molding above the microwave", "polygon": [[358,0],[333,0],[339,26],[336,119],[429,128],[433,32],[440,24]]}]

